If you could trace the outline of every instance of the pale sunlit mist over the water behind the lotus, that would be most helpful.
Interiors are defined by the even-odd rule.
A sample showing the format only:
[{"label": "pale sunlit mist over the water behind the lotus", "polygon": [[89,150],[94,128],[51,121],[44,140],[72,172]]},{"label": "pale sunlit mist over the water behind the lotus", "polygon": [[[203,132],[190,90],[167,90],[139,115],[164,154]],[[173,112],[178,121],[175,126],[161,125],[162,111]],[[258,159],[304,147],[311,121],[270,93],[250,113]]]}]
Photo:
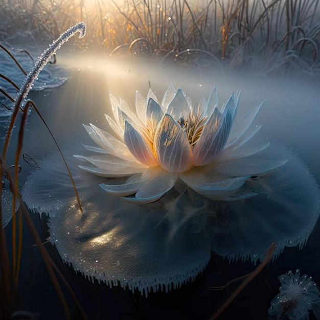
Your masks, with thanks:
[{"label": "pale sunlit mist over the water behind the lotus", "polygon": [[[312,170],[318,173],[315,164],[320,151],[315,146],[320,116],[320,80],[317,78],[222,73],[219,68],[158,64],[152,59],[79,55],[60,56],[59,62],[71,72],[71,79],[48,97],[41,99],[39,94],[36,101],[40,110],[48,112],[46,121],[53,129],[59,128],[55,134],[64,141],[66,135],[84,132],[82,123],[94,123],[110,130],[104,117],[105,113],[111,114],[109,93],[134,107],[136,90],[146,96],[150,85],[156,96],[162,97],[172,83],[175,88],[181,87],[197,106],[202,95],[208,99],[212,88],[217,86],[219,107],[231,92],[241,90],[238,119],[265,101],[257,119],[257,124],[263,125],[262,133],[303,155],[307,165],[313,165]],[[29,127],[36,118],[30,118]]]}]

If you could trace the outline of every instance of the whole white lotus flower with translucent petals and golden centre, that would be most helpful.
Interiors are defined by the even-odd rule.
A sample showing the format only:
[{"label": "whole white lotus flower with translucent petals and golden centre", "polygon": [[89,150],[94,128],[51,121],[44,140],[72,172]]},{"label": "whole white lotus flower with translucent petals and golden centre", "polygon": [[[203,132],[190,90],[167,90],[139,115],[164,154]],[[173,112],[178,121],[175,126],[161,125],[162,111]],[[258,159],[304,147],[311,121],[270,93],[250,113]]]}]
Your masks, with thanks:
[{"label": "whole white lotus flower with translucent petals and golden centre", "polygon": [[246,198],[254,194],[235,193],[248,178],[270,174],[287,162],[248,157],[269,143],[248,143],[261,128],[253,124],[261,105],[233,125],[240,94],[232,94],[220,111],[216,88],[198,107],[172,85],[161,104],[151,89],[146,100],[136,92],[135,110],[111,94],[110,100],[114,119],[106,118],[117,138],[84,125],[100,148],[85,147],[100,154],[75,157],[96,166],[81,169],[116,178],[100,186],[125,201],[154,202],[177,180],[213,200]]}]

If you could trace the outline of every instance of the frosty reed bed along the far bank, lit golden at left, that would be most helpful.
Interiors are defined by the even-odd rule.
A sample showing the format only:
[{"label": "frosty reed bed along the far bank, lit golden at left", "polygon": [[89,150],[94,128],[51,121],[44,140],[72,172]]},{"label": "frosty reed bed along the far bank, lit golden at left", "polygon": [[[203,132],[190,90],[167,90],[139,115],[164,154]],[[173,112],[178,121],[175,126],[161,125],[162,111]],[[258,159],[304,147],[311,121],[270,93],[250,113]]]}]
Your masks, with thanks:
[{"label": "frosty reed bed along the far bank, lit golden at left", "polygon": [[52,39],[83,20],[82,50],[317,74],[319,18],[319,0],[5,0],[0,39],[20,30]]}]

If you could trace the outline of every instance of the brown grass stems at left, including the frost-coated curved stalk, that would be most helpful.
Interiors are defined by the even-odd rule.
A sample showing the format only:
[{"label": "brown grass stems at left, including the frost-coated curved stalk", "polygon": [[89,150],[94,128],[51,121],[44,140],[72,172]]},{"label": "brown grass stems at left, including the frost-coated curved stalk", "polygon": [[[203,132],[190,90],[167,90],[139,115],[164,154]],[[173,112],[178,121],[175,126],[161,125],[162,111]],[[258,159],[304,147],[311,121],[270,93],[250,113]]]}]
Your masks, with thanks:
[{"label": "brown grass stems at left, including the frost-coated curved stalk", "polygon": [[[13,85],[17,89],[17,95],[15,98],[11,97],[5,90],[2,90],[2,94],[9,99],[9,101],[13,102],[13,106],[9,104],[2,103],[2,106],[9,109],[12,112],[11,120],[7,128],[7,132],[4,139],[3,150],[0,152],[0,176],[4,179],[8,180],[8,184],[10,187],[10,191],[13,194],[12,201],[12,233],[6,233],[6,230],[2,226],[2,188],[0,188],[0,317],[3,319],[9,319],[12,312],[15,311],[15,307],[17,306],[17,296],[18,296],[18,283],[19,283],[19,271],[21,264],[21,256],[22,256],[22,219],[25,220],[28,226],[28,232],[32,235],[36,246],[39,249],[39,252],[43,258],[44,264],[47,267],[50,278],[52,280],[53,287],[55,288],[58,298],[62,304],[65,318],[71,319],[71,310],[67,305],[65,300],[65,296],[63,290],[60,286],[59,280],[62,281],[64,286],[68,291],[70,291],[75,303],[80,311],[82,318],[86,318],[84,311],[82,310],[74,292],[72,291],[70,285],[64,279],[61,271],[47,252],[47,249],[42,245],[39,234],[36,230],[36,227],[33,223],[33,220],[30,217],[29,211],[26,208],[26,205],[22,201],[21,195],[18,190],[18,173],[20,171],[19,160],[21,155],[21,150],[24,141],[24,132],[27,122],[27,117],[29,114],[29,109],[33,108],[37,115],[40,117],[45,126],[47,126],[50,131],[47,123],[43,119],[40,111],[36,107],[35,103],[32,100],[27,100],[26,103],[24,99],[27,98],[28,92],[32,86],[33,81],[37,78],[39,72],[42,70],[43,66],[48,63],[51,56],[58,50],[65,41],[68,40],[71,36],[73,36],[76,32],[80,32],[81,36],[85,34],[85,28],[83,24],[78,24],[66,32],[64,32],[57,40],[55,40],[50,47],[43,52],[43,54],[38,58],[35,62],[34,67],[31,73],[27,74],[24,69],[20,66],[18,61],[12,56],[12,54],[3,46],[0,46],[0,50],[4,50],[8,56],[17,64],[17,67],[26,75],[24,83],[21,86],[17,85],[10,79],[10,75],[2,75],[0,76],[8,81],[11,85]],[[21,117],[18,117],[18,113],[21,113]],[[20,118],[20,123],[18,119]],[[18,129],[17,136],[17,147],[15,150],[15,161],[14,166],[9,166],[7,163],[7,155],[9,150],[10,141],[12,140],[12,132],[14,127]],[[51,131],[50,131],[51,133]],[[52,134],[51,134],[52,135]],[[52,138],[54,139],[53,135]],[[54,139],[55,141],[55,139]],[[56,142],[56,141],[55,141]],[[56,144],[57,145],[57,144]],[[65,159],[61,153],[59,146],[57,148],[65,162]],[[75,184],[73,178],[71,176],[70,170],[65,162],[66,169],[70,174],[70,178],[72,180],[73,186],[75,188]],[[12,170],[13,167],[13,170]],[[75,193],[78,199],[79,207],[81,210],[81,204],[78,197],[77,190],[75,188]],[[20,208],[17,212],[15,212],[16,203],[19,201]],[[12,246],[9,247],[7,243],[7,237],[12,236]],[[10,252],[10,255],[9,255]],[[9,256],[12,256],[12,260],[9,259]],[[58,280],[59,279],[59,280]]]}]

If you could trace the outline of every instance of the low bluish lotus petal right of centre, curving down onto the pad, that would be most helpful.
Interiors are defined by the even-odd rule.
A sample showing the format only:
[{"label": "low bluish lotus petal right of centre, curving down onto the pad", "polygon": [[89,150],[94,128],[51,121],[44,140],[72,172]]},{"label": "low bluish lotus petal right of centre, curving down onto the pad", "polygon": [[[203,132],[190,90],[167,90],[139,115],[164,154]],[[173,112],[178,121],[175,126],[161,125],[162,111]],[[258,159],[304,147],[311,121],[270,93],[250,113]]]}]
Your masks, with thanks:
[{"label": "low bluish lotus petal right of centre, curving down onto the pad", "polygon": [[[179,174],[179,177],[195,192],[213,200],[223,200],[232,196],[250,176],[228,178],[226,176],[210,176],[202,173],[186,172]],[[219,177],[218,177],[219,176]],[[219,180],[220,178],[220,180]]]}]

